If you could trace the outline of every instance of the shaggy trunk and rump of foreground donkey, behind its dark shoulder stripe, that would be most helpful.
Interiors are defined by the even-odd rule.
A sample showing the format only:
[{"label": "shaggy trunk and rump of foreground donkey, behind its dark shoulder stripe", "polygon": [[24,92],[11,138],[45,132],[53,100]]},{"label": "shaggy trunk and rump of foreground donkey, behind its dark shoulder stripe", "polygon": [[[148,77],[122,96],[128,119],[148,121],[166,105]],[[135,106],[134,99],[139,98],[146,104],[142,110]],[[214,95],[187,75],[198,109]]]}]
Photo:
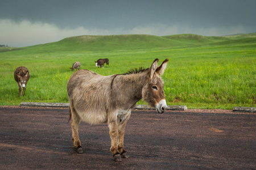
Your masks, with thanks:
[{"label": "shaggy trunk and rump of foreground donkey, behind its dark shoulder stripe", "polygon": [[106,106],[109,105],[110,98],[110,76],[79,70],[69,78],[67,84],[69,105],[82,121],[100,124],[108,120]]}]

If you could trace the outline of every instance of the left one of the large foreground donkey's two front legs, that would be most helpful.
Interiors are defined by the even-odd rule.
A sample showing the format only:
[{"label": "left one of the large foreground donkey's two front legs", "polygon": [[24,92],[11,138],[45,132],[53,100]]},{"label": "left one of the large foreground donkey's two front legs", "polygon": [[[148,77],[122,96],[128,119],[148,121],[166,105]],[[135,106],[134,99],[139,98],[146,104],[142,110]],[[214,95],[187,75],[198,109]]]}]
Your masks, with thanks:
[{"label": "left one of the large foreground donkey's two front legs", "polygon": [[118,134],[118,130],[117,130],[117,120],[115,118],[115,120],[108,120],[108,125],[109,125],[109,135],[111,138],[111,148],[110,151],[114,157],[115,161],[122,161],[121,159],[121,155],[118,152],[118,147],[117,147],[117,134]]}]

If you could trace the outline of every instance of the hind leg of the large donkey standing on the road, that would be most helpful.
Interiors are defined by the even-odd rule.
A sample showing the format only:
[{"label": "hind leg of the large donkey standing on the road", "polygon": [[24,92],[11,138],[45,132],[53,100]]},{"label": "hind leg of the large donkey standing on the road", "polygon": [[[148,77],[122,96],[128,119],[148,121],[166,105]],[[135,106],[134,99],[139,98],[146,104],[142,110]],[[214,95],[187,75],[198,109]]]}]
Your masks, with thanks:
[{"label": "hind leg of the large donkey standing on the road", "polygon": [[81,118],[77,114],[76,110],[71,106],[69,106],[69,112],[71,112],[71,128],[72,128],[72,141],[74,142],[74,146],[76,151],[79,154],[82,154],[82,146],[79,140],[79,124],[81,122]]}]

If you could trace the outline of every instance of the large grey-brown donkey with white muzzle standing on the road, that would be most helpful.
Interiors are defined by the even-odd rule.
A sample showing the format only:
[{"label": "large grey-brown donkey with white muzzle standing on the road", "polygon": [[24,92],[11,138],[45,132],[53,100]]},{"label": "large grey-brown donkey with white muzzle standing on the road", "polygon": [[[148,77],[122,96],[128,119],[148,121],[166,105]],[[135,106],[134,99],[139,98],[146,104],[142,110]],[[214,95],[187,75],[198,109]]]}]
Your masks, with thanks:
[{"label": "large grey-brown donkey with white muzzle standing on the road", "polygon": [[148,69],[130,70],[126,74],[102,76],[93,71],[79,70],[68,80],[67,91],[72,126],[72,141],[80,154],[79,124],[108,123],[115,161],[129,158],[123,146],[126,122],[137,101],[143,99],[158,113],[167,108],[160,76],[168,59],[158,67],[158,59]]}]

